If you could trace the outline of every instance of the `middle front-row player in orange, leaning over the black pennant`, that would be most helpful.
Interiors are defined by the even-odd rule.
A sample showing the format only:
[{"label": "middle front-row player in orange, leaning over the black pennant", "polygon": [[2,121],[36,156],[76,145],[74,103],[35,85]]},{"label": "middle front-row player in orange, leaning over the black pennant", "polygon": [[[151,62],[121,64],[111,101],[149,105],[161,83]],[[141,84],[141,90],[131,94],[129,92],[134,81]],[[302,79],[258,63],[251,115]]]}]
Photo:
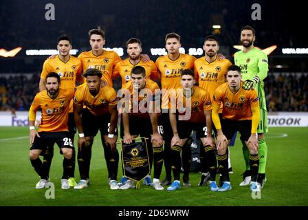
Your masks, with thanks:
[{"label": "middle front-row player in orange, leaning over the black pennant", "polygon": [[[122,89],[123,94],[129,95],[129,108],[122,111],[122,129],[121,137],[125,144],[131,144],[133,138],[147,137],[148,155],[150,159],[150,168],[153,163],[154,151],[154,179],[153,187],[155,190],[163,190],[159,182],[162,173],[162,165],[164,159],[164,150],[162,146],[162,136],[157,131],[157,112],[155,107],[159,105],[160,92],[157,83],[146,78],[146,69],[142,66],[135,66],[131,69],[131,80],[125,84]],[[124,97],[127,100],[127,97]],[[137,100],[137,109],[134,109],[133,103]],[[125,103],[125,104],[126,104]],[[125,106],[126,107],[126,106]],[[143,109],[140,109],[143,107]],[[142,126],[140,126],[142,124]],[[146,177],[150,178],[150,177]],[[145,178],[145,179],[146,179]],[[149,181],[147,181],[149,182]],[[132,188],[133,181],[128,180],[121,189]]]}]

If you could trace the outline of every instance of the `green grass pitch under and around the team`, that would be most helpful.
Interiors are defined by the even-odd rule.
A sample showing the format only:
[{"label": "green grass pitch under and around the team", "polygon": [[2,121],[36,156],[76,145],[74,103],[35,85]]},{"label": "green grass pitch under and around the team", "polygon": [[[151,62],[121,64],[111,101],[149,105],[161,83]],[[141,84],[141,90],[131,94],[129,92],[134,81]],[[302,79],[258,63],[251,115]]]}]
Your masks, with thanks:
[{"label": "green grass pitch under and around the team", "polygon": [[[61,190],[62,158],[55,148],[50,171],[55,198],[46,199],[46,189],[34,188],[39,176],[29,159],[28,127],[0,127],[0,206],[307,206],[308,205],[308,128],[270,128],[267,182],[261,199],[252,199],[248,187],[241,187],[244,170],[241,144],[231,148],[234,174],[232,190],[210,192],[198,187],[199,173],[190,173],[192,187],[168,192],[141,184],[135,190],[110,190],[107,168],[99,136],[92,149],[91,185],[84,190]],[[75,140],[76,143],[76,140]],[[120,149],[120,146],[118,146]],[[122,176],[119,164],[118,180]],[[79,179],[78,164],[75,170]],[[161,179],[164,177],[164,171]],[[217,176],[217,179],[219,177]]]}]

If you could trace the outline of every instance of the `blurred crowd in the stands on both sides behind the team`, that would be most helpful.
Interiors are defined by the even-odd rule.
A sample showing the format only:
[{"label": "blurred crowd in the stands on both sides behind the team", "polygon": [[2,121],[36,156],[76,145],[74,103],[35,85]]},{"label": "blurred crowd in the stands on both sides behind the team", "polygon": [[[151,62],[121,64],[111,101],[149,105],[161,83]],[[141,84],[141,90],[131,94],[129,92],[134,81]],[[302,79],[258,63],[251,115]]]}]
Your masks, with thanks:
[{"label": "blurred crowd in the stands on both sides behind the team", "polygon": [[[116,81],[115,85],[120,87]],[[0,111],[28,111],[39,91],[39,74],[0,75]],[[307,74],[272,74],[265,79],[268,111],[308,111]]]}]

